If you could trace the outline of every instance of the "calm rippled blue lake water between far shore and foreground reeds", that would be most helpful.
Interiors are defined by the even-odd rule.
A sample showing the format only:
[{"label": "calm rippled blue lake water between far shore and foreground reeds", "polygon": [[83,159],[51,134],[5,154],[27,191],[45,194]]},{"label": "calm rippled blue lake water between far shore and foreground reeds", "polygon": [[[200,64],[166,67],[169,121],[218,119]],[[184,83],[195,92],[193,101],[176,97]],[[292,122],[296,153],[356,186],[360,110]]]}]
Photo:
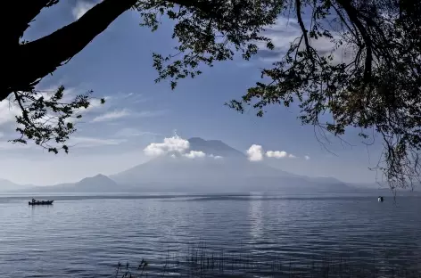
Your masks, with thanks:
[{"label": "calm rippled blue lake water between far shore and foreground reeds", "polygon": [[380,203],[377,195],[36,197],[55,200],[44,207],[30,207],[32,196],[0,195],[0,277],[111,277],[119,261],[145,258],[153,266],[162,254],[186,254],[199,242],[262,261],[329,253],[421,269],[421,196]]}]

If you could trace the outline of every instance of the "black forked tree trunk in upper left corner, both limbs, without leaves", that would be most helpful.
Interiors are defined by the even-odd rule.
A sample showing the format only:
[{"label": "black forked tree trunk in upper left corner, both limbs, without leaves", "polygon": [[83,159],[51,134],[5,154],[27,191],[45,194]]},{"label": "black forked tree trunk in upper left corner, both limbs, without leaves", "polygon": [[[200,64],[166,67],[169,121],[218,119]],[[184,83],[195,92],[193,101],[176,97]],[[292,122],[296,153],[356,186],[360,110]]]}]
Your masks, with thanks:
[{"label": "black forked tree trunk in upper left corner, both limbs, without leaves", "polygon": [[11,17],[8,23],[11,29],[4,34],[7,52],[3,53],[2,59],[5,70],[0,86],[0,101],[14,91],[29,90],[41,78],[54,72],[62,62],[68,61],[107,29],[121,13],[136,4],[136,0],[103,0],[79,20],[48,36],[19,45],[19,38],[28,28],[29,21],[33,20],[42,8],[54,3],[55,1],[51,0],[15,0],[8,4],[11,15],[15,14],[17,18]]}]

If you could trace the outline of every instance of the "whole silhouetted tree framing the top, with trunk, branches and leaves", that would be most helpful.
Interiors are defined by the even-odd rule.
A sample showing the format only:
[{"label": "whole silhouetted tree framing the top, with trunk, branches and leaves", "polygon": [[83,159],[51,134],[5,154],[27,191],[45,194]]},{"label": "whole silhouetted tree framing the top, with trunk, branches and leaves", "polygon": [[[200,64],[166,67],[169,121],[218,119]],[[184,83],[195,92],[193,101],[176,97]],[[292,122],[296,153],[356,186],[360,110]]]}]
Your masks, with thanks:
[{"label": "whole silhouetted tree framing the top, with trunk, branches and leaves", "polygon": [[[346,127],[361,128],[367,139],[384,139],[384,171],[392,188],[406,187],[419,178],[421,148],[421,7],[415,0],[103,0],[76,20],[32,42],[21,42],[31,20],[58,0],[16,0],[3,4],[3,82],[0,100],[10,97],[18,116],[21,138],[49,151],[65,145],[75,127],[71,117],[89,106],[89,93],[62,103],[63,88],[45,98],[35,86],[80,52],[108,25],[129,9],[136,9],[142,26],[157,29],[161,16],[175,20],[175,54],[153,53],[156,82],[168,78],[171,87],[181,78],[201,74],[199,66],[232,60],[241,53],[249,60],[265,45],[273,50],[265,27],[288,14],[297,20],[301,36],[285,56],[262,70],[264,81],[241,100],[227,103],[244,111],[251,105],[263,116],[269,104],[299,102],[300,119],[322,130],[343,135]],[[303,20],[303,11],[311,23]],[[318,40],[333,43],[321,52]],[[263,44],[262,44],[263,43]],[[347,61],[335,59],[338,48],[348,49]],[[55,116],[51,116],[53,111]],[[321,115],[328,114],[330,121]],[[77,116],[75,116],[77,115]],[[50,117],[50,118],[48,118]],[[45,120],[47,118],[47,120]],[[370,131],[373,133],[370,133]],[[53,144],[51,144],[53,142]]]}]

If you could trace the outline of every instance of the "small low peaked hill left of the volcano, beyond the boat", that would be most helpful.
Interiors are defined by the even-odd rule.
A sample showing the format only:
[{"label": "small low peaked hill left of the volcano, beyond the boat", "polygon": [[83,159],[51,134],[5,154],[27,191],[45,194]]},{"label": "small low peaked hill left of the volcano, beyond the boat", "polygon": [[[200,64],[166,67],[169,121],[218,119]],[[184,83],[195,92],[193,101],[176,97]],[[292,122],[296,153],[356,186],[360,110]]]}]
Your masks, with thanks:
[{"label": "small low peaked hill left of the volcano, beyond the boat", "polygon": [[78,183],[57,184],[51,186],[35,186],[29,192],[124,192],[120,186],[111,178],[104,175],[86,177]]}]

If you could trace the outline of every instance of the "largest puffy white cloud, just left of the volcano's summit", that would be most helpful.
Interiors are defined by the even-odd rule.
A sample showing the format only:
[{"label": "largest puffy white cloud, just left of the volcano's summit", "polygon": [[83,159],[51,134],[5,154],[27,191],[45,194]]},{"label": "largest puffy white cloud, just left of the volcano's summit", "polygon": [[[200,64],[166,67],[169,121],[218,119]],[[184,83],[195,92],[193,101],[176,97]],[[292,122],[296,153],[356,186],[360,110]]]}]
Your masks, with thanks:
[{"label": "largest puffy white cloud, just left of the volcano's summit", "polygon": [[190,143],[174,135],[169,138],[164,138],[162,143],[150,143],[146,148],[144,148],[144,154],[147,156],[161,156],[165,154],[184,154],[185,151],[190,147]]}]

